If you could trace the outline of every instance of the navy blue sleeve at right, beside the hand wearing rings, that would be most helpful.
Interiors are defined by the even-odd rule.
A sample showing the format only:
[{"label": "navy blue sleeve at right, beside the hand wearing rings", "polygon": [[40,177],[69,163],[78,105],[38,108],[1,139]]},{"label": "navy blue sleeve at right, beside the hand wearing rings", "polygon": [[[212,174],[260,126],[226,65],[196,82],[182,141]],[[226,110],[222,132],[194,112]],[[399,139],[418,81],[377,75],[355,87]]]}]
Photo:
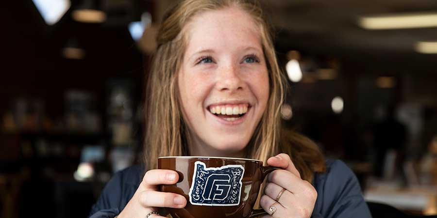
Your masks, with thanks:
[{"label": "navy blue sleeve at right, beside the hand wearing rings", "polygon": [[318,197],[312,218],[371,218],[358,179],[340,160],[316,179]]}]

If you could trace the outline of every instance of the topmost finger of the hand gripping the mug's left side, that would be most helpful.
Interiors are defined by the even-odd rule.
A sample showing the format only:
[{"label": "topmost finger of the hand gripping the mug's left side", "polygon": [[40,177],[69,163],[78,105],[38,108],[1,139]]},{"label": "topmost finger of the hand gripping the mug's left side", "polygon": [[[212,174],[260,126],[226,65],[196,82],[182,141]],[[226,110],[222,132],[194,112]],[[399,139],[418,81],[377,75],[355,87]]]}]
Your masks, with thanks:
[{"label": "topmost finger of the hand gripping the mug's left side", "polygon": [[179,179],[176,171],[172,170],[150,170],[147,171],[141,182],[146,190],[156,190],[156,185],[175,184]]}]

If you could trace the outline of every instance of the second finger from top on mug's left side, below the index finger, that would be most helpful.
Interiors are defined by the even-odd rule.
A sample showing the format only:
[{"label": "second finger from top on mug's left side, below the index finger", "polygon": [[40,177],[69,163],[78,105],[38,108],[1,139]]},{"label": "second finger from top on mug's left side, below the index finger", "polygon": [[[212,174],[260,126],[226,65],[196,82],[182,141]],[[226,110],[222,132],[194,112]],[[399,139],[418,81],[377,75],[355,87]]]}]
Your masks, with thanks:
[{"label": "second finger from top on mug's left side, below the index finger", "polygon": [[153,190],[141,192],[138,201],[143,207],[183,208],[186,205],[186,199],[182,195]]}]

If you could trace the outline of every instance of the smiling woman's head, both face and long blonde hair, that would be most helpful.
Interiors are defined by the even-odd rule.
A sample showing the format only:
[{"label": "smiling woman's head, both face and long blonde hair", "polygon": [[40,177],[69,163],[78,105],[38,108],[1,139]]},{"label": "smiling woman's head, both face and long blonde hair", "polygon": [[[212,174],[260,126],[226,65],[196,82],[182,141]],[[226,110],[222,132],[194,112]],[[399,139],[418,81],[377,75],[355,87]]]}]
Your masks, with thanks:
[{"label": "smiling woman's head, both face and long blonde hair", "polygon": [[[205,13],[211,16],[196,19]],[[168,12],[148,80],[144,161],[149,169],[156,168],[159,156],[210,150],[264,163],[286,153],[308,181],[314,171],[324,171],[317,145],[280,126],[285,78],[263,17],[256,1],[244,0],[187,0]],[[197,96],[199,102],[193,102]],[[248,104],[242,125],[232,125],[237,120],[213,121],[211,106],[226,110],[240,103]]]}]

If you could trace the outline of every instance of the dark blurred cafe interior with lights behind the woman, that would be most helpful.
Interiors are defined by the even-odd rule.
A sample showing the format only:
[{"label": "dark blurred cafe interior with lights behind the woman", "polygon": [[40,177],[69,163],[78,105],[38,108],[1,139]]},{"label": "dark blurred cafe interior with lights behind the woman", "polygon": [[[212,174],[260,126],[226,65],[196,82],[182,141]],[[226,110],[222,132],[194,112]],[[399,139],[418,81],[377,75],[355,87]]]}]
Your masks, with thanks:
[{"label": "dark blurred cafe interior with lights behind the woman", "polygon": [[[138,164],[154,36],[176,0],[1,6],[0,217],[87,217]],[[343,160],[364,197],[437,215],[437,1],[269,0],[283,127]]]}]

